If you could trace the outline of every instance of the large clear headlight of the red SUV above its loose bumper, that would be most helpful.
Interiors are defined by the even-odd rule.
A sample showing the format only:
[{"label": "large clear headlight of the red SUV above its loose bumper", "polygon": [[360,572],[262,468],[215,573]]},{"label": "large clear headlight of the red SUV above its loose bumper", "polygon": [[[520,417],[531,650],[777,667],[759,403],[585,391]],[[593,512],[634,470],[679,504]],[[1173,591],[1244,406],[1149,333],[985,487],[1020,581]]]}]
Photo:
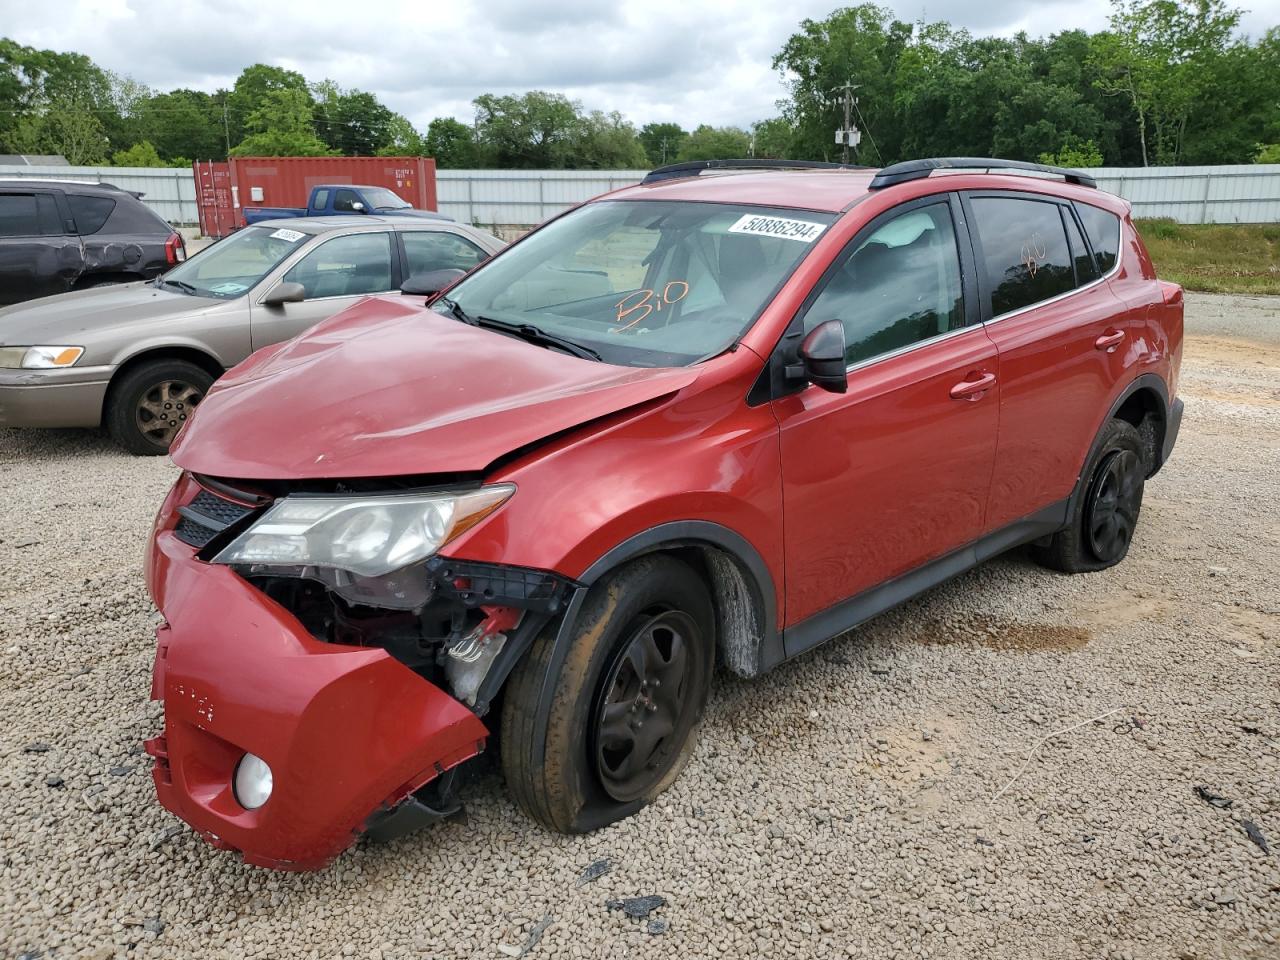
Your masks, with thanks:
[{"label": "large clear headlight of the red SUV above its loose bumper", "polygon": [[332,567],[383,576],[426,559],[515,492],[513,484],[494,484],[465,493],[294,494],[278,500],[214,563]]}]

